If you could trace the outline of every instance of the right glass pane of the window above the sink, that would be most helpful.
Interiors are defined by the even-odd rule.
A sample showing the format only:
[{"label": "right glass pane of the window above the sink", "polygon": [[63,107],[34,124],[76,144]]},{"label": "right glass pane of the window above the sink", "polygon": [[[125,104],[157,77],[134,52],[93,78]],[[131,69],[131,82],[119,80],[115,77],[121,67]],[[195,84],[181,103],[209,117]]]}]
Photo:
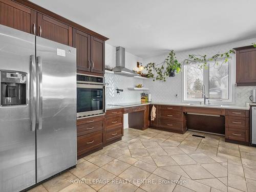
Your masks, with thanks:
[{"label": "right glass pane of the window above the sink", "polygon": [[[221,63],[220,61],[219,63]],[[209,98],[228,99],[228,62],[223,65],[209,63]]]}]

